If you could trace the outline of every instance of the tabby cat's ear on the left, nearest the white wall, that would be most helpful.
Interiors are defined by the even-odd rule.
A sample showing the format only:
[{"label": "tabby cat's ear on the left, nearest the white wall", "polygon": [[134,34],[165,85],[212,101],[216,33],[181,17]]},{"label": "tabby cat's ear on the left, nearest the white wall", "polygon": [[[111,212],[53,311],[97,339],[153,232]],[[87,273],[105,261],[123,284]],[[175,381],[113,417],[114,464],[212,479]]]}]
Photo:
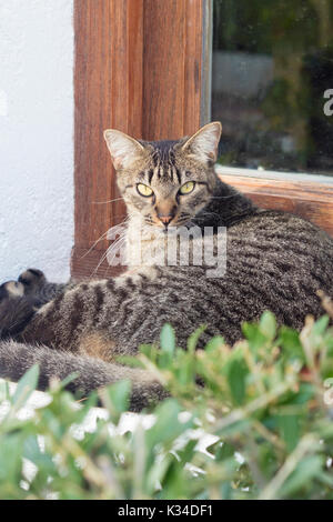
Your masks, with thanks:
[{"label": "tabby cat's ear on the left, nearest the white wall", "polygon": [[134,161],[144,157],[144,147],[124,132],[108,129],[104,131],[104,140],[115,170],[128,169]]}]

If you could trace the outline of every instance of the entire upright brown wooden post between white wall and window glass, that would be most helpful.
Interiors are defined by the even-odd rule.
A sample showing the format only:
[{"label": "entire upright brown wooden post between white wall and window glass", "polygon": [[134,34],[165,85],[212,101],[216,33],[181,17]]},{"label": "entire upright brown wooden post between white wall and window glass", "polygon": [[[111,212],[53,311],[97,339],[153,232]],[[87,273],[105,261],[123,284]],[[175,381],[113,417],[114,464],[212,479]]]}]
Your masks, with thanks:
[{"label": "entire upright brown wooden post between white wall and window glass", "polygon": [[125,215],[103,130],[159,140],[200,127],[205,1],[74,0],[73,275],[90,275],[82,251]]}]

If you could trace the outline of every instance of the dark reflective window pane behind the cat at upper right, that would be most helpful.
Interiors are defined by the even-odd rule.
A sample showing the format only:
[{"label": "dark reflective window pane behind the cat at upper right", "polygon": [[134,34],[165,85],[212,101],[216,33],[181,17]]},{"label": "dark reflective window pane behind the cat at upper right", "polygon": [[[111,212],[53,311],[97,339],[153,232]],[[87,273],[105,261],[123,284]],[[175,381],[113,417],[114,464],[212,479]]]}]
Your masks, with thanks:
[{"label": "dark reflective window pane behind the cat at upper right", "polygon": [[332,175],[333,0],[213,4],[220,162]]}]

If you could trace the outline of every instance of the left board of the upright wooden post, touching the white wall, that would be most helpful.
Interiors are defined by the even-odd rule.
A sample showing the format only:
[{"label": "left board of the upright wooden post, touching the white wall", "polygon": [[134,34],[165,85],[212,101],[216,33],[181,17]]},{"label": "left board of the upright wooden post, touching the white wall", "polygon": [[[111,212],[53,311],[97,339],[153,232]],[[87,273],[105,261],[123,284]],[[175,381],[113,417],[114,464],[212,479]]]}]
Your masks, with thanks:
[{"label": "left board of the upright wooden post, touching the white wall", "polygon": [[103,131],[142,134],[143,0],[75,0],[74,32],[73,268],[125,215]]}]

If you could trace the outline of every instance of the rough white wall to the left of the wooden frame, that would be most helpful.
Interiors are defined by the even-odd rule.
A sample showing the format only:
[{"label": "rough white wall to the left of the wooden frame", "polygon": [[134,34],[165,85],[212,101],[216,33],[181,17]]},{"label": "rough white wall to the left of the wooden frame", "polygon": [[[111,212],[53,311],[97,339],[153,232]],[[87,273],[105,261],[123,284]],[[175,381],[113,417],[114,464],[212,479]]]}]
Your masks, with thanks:
[{"label": "rough white wall to the left of the wooden frame", "polygon": [[72,0],[0,0],[0,282],[69,277]]}]

